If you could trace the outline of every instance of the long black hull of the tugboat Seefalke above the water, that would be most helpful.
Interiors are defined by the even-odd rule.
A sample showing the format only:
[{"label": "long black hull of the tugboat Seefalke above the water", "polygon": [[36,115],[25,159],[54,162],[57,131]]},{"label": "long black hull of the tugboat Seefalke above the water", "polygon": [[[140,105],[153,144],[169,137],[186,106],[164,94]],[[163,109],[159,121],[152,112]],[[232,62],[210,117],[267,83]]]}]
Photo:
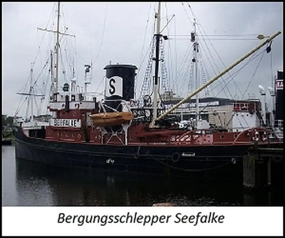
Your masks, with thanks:
[{"label": "long black hull of the tugboat Seefalke above the water", "polygon": [[47,165],[239,181],[243,156],[250,149],[249,145],[170,147],[70,143],[30,138],[21,129],[15,138],[17,159]]}]

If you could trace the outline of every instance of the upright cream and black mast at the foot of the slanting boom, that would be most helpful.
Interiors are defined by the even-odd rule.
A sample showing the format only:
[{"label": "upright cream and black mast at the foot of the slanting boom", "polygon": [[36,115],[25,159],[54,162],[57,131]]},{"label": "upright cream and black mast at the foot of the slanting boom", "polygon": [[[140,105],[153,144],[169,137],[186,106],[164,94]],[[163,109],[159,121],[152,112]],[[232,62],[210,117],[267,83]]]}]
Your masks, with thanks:
[{"label": "upright cream and black mast at the foot of the slanting boom", "polygon": [[[156,52],[155,52],[155,71],[154,71],[154,110],[153,110],[153,121],[157,118],[157,102],[158,102],[158,64],[159,64],[159,42],[160,42],[160,2],[158,2],[158,13],[156,16]],[[153,125],[154,126],[154,125]]]}]

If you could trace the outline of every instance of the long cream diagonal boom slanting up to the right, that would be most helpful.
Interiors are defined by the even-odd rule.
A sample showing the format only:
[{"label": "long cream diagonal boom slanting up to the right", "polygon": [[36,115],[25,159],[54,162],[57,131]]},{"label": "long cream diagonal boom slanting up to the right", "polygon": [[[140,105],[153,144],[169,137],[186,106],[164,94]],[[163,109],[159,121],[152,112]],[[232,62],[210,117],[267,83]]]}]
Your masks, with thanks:
[{"label": "long cream diagonal boom slanting up to the right", "polygon": [[[209,80],[207,83],[203,84],[201,87],[197,88],[194,92],[190,93],[187,97],[185,97],[184,99],[182,99],[180,102],[178,102],[177,104],[175,104],[172,108],[168,109],[164,114],[160,115],[156,121],[163,119],[165,116],[167,116],[170,112],[172,112],[173,110],[175,110],[176,108],[178,108],[181,104],[183,104],[184,102],[188,101],[191,97],[193,97],[194,95],[196,95],[197,93],[199,93],[200,91],[202,91],[204,88],[206,88],[207,86],[209,86],[210,84],[212,84],[214,81],[216,81],[217,79],[219,79],[221,76],[223,76],[225,73],[227,73],[228,71],[230,71],[233,67],[235,67],[236,65],[238,65],[239,63],[241,63],[243,60],[245,60],[248,56],[250,56],[251,54],[253,54],[255,51],[259,50],[262,46],[264,46],[265,44],[267,44],[268,42],[272,41],[276,36],[278,36],[279,34],[281,34],[280,31],[275,32],[272,36],[270,36],[269,38],[266,38],[266,40],[264,40],[264,42],[260,43],[258,46],[256,46],[255,48],[253,48],[252,50],[250,50],[247,54],[245,54],[244,56],[242,56],[241,58],[239,58],[237,61],[235,61],[234,63],[232,63],[229,67],[227,67],[226,69],[224,69],[221,73],[219,73],[218,75],[216,75],[215,77],[213,77],[211,80]],[[155,120],[152,121],[152,124],[155,124]]]}]

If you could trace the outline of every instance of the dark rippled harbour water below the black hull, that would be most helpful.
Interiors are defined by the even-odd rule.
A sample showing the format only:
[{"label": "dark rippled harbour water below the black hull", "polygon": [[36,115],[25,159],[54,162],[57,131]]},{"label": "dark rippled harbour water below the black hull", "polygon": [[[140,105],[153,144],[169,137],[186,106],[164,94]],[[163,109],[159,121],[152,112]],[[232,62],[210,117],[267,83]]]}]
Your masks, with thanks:
[{"label": "dark rippled harbour water below the black hull", "polygon": [[3,206],[283,205],[283,189],[245,193],[233,184],[46,167],[2,146]]}]

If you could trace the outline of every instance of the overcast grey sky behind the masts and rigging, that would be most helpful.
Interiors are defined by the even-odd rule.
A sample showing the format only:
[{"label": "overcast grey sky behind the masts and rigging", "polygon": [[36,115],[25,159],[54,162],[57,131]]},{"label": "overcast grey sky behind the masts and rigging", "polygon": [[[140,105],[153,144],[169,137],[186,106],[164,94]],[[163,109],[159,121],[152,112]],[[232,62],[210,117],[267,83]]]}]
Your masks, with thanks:
[{"label": "overcast grey sky behind the masts and rigging", "polygon": [[[191,50],[189,35],[194,30],[194,18],[198,23],[199,57],[205,66],[204,75],[207,79],[260,44],[261,41],[256,38],[258,34],[269,36],[276,31],[282,32],[283,29],[282,2],[189,4],[191,9],[186,2],[161,3],[162,34],[169,38],[164,46],[168,80],[170,87],[179,96],[186,96],[190,80],[192,54],[185,52]],[[55,24],[52,23],[56,23],[56,6],[53,2],[2,3],[2,114],[13,116],[23,103],[24,97],[16,93],[29,90],[29,84],[25,85],[33,62],[33,78],[37,79],[36,91],[48,92],[49,66],[42,69],[50,58],[50,50],[54,48],[55,34],[37,28],[55,29]],[[139,93],[149,58],[155,11],[156,2],[61,3],[60,31],[74,34],[75,37],[64,36],[60,42],[62,62],[67,60],[65,68],[60,68],[60,87],[64,80],[68,81],[72,77],[68,71],[68,65],[71,64],[75,65],[76,79],[83,84],[84,64],[90,64],[92,60],[92,80],[88,90],[102,93],[102,79],[105,75],[103,68],[111,61],[139,68],[135,84],[136,92]],[[64,30],[64,27],[68,29]],[[262,49],[265,50],[265,47]],[[75,54],[74,58],[72,53]],[[245,65],[234,80],[230,81],[229,76],[244,63],[211,85],[210,95],[242,99],[248,98],[248,93],[254,93],[259,97],[258,85],[264,88],[271,86],[272,74],[283,70],[283,33],[273,40],[270,54],[258,51],[255,55],[256,58]],[[64,75],[63,69],[66,71]],[[199,73],[199,85],[203,83],[202,76]],[[223,85],[224,82],[228,82],[227,87]],[[38,109],[34,111],[46,112],[46,105],[40,106],[38,103],[37,106]],[[23,106],[19,116],[25,114]]]}]

